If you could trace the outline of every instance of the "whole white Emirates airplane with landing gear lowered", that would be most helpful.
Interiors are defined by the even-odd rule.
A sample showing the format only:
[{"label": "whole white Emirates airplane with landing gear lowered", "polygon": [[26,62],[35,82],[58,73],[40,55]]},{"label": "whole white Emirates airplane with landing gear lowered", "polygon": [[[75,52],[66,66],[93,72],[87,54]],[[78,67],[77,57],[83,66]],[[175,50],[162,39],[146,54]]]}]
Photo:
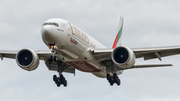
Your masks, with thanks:
[{"label": "whole white Emirates airplane with landing gear lowered", "polygon": [[120,85],[118,75],[124,70],[133,68],[149,68],[172,66],[172,64],[135,65],[136,58],[159,59],[180,54],[180,46],[129,48],[121,45],[121,35],[124,18],[120,17],[112,48],[107,48],[90,35],[75,27],[69,21],[52,18],[45,21],[41,27],[43,42],[49,50],[21,49],[0,50],[0,57],[15,59],[19,67],[24,70],[35,70],[39,60],[44,60],[47,68],[57,71],[53,75],[57,87],[67,86],[63,72],[75,74],[75,70],[106,78],[111,86]]}]

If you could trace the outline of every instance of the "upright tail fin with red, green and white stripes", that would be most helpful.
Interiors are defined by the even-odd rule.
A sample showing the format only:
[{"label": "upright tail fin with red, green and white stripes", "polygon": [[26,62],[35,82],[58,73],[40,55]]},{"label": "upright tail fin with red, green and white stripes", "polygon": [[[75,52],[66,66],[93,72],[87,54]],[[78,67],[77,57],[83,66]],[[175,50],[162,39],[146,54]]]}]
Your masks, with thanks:
[{"label": "upright tail fin with red, green and white stripes", "polygon": [[122,35],[122,30],[123,30],[123,22],[124,22],[124,18],[120,17],[119,25],[117,28],[117,36],[114,40],[112,48],[116,48],[117,46],[121,45],[121,35]]}]

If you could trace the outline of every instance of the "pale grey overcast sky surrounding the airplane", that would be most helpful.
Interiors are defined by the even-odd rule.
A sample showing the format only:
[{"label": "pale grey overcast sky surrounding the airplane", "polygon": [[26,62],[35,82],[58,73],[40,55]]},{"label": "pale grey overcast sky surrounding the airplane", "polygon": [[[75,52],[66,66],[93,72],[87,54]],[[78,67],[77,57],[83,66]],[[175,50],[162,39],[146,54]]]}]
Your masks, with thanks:
[{"label": "pale grey overcast sky surrounding the airplane", "polygon": [[[111,48],[120,16],[122,45],[130,48],[180,45],[179,0],[1,0],[0,50],[47,50],[41,25],[63,18]],[[44,62],[28,72],[15,60],[0,61],[1,101],[179,101],[180,55],[137,64],[172,63],[173,67],[132,69],[119,76],[121,85],[76,71],[64,73],[68,87],[56,87]]]}]

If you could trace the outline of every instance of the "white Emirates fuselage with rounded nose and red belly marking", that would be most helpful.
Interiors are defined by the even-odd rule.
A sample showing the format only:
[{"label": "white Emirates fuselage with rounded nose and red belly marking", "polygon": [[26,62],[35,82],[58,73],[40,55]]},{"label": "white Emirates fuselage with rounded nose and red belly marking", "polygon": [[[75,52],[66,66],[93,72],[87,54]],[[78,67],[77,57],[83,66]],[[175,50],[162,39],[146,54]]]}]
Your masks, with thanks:
[{"label": "white Emirates fuselage with rounded nose and red belly marking", "polygon": [[55,45],[58,55],[72,67],[106,77],[104,65],[99,64],[90,50],[106,48],[103,44],[66,20],[54,18],[44,22],[41,29],[44,43]]}]

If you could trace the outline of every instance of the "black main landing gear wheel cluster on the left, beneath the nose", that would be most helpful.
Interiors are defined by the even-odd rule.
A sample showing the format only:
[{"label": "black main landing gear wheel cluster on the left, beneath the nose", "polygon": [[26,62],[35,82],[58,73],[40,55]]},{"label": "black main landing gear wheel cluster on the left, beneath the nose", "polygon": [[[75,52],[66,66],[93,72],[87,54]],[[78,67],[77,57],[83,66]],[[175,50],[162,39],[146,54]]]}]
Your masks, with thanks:
[{"label": "black main landing gear wheel cluster on the left, beneath the nose", "polygon": [[64,78],[64,76],[62,74],[59,77],[54,75],[53,80],[58,87],[60,87],[61,84],[64,85],[64,87],[67,86],[67,80]]}]

